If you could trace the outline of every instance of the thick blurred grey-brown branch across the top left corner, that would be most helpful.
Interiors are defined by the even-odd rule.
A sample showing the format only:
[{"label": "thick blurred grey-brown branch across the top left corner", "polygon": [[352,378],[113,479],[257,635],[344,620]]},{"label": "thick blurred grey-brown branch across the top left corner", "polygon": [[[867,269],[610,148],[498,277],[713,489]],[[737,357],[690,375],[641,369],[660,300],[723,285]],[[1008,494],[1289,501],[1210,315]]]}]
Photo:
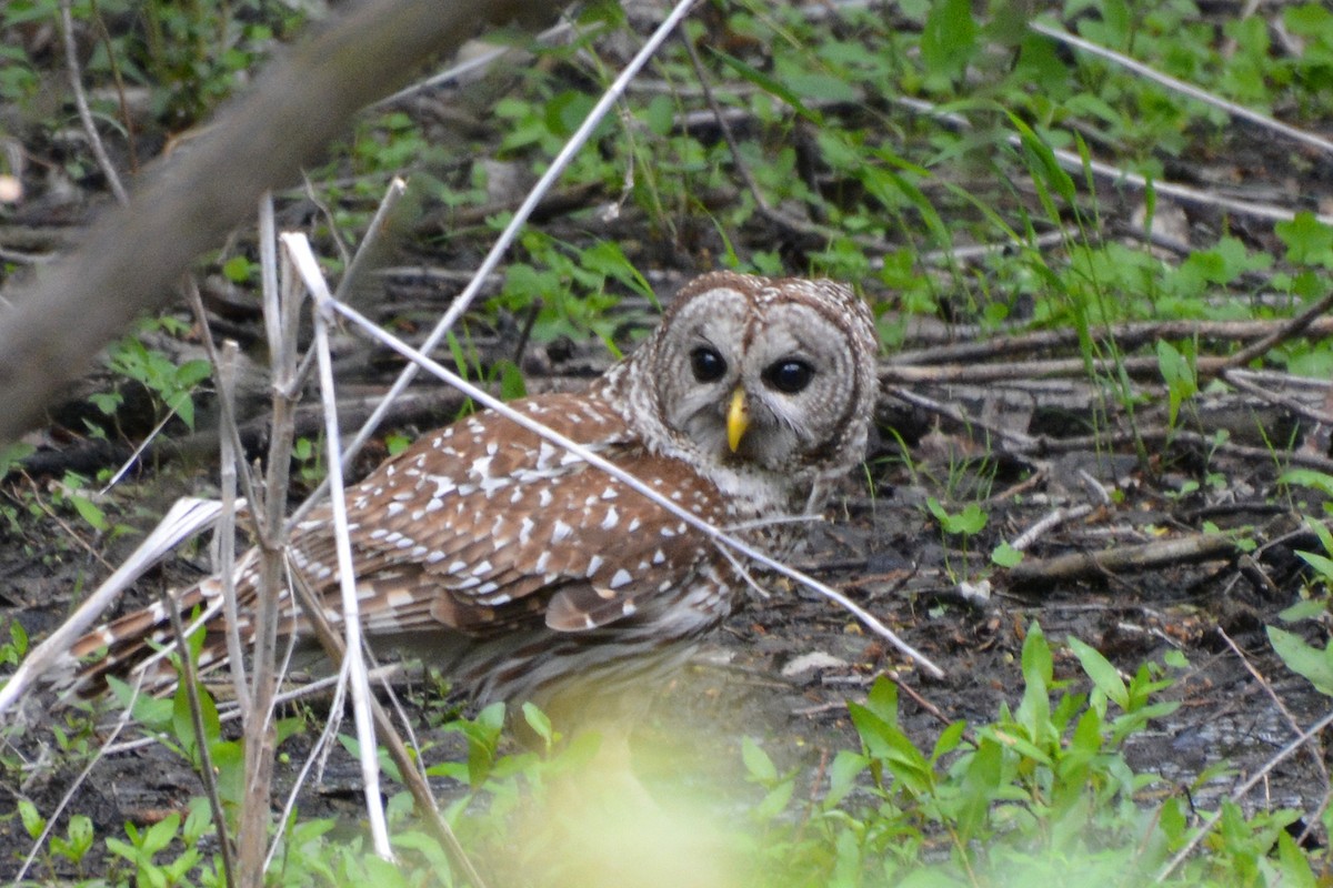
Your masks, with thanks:
[{"label": "thick blurred grey-brown branch across the top left corner", "polygon": [[[485,21],[553,11],[535,0],[371,0],[269,67],[213,128],[155,164],[68,258],[0,308],[0,442],[41,417],[61,382],[137,314],[168,301],[195,258],[255,213],[268,189],[361,107],[388,95]],[[3,305],[3,304],[0,304]]]}]

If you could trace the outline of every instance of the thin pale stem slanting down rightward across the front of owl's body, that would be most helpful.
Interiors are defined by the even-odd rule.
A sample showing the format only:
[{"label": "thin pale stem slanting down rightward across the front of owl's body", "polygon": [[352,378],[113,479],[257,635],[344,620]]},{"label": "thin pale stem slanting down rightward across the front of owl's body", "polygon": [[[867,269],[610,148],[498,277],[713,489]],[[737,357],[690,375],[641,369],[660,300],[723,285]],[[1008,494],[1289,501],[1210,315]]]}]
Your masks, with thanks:
[{"label": "thin pale stem slanting down rightward across the front of owl's body", "polygon": [[447,370],[444,366],[441,366],[439,362],[433,361],[428,355],[421,354],[421,351],[419,351],[417,349],[413,349],[412,346],[409,346],[409,345],[401,342],[400,339],[397,339],[395,335],[392,335],[389,333],[385,333],[373,321],[371,321],[369,318],[367,318],[365,316],[363,316],[356,309],[349,308],[347,305],[343,305],[340,302],[333,302],[327,296],[321,297],[320,294],[315,294],[315,300],[319,304],[320,310],[332,309],[332,310],[337,312],[343,317],[345,317],[349,321],[352,321],[353,324],[357,324],[359,326],[361,326],[373,338],[376,338],[380,342],[383,342],[384,345],[389,346],[391,349],[393,349],[395,351],[397,351],[403,357],[408,358],[409,361],[416,362],[417,365],[420,365],[425,370],[431,371],[432,374],[435,374],[436,377],[439,377],[444,382],[448,382],[451,386],[453,386],[455,389],[457,389],[463,394],[468,395],[469,398],[472,398],[477,403],[485,405],[487,407],[495,410],[500,415],[503,415],[503,417],[508,418],[509,421],[512,421],[512,422],[523,426],[528,431],[532,431],[533,434],[540,435],[541,438],[549,441],[553,445],[564,447],[569,453],[577,455],[584,462],[587,462],[587,463],[589,463],[592,466],[596,466],[597,469],[601,469],[608,475],[611,475],[611,477],[616,478],[617,481],[623,482],[625,486],[628,486],[632,490],[635,490],[636,493],[647,497],[648,499],[651,499],[652,502],[657,503],[659,506],[661,506],[663,509],[665,509],[668,513],[670,513],[676,518],[680,518],[682,522],[685,522],[686,525],[689,525],[694,530],[697,530],[701,534],[706,535],[714,543],[721,545],[721,546],[728,546],[732,550],[740,553],[741,555],[745,555],[746,558],[749,558],[749,559],[752,559],[752,560],[754,560],[754,562],[757,562],[760,564],[764,564],[769,570],[772,570],[772,571],[774,571],[777,574],[781,574],[782,576],[786,576],[788,579],[792,579],[792,580],[794,580],[797,583],[801,583],[806,588],[810,588],[810,590],[818,592],[820,595],[824,595],[825,598],[828,598],[828,599],[830,599],[833,602],[837,602],[844,608],[846,608],[849,612],[852,612],[858,620],[861,620],[862,624],[865,624],[868,628],[870,628],[877,635],[880,635],[881,638],[884,638],[886,642],[889,642],[889,644],[892,644],[893,647],[898,648],[898,651],[901,651],[904,655],[906,655],[908,658],[910,658],[912,660],[914,660],[929,675],[932,675],[934,678],[944,678],[944,670],[941,670],[938,666],[936,666],[934,663],[932,663],[928,656],[925,656],[924,654],[921,654],[920,651],[917,651],[914,647],[912,647],[910,644],[908,644],[906,642],[904,642],[901,638],[898,638],[893,632],[893,630],[890,630],[888,626],[885,626],[884,623],[881,623],[869,611],[864,610],[860,604],[857,604],[856,602],[853,602],[852,599],[849,599],[842,592],[837,591],[836,588],[833,588],[830,586],[826,586],[826,584],[821,583],[820,580],[814,579],[813,576],[810,576],[808,574],[804,574],[804,572],[796,570],[794,567],[789,567],[788,564],[784,564],[784,563],[781,563],[778,560],[774,560],[773,558],[769,558],[766,554],[764,554],[760,550],[754,549],[749,543],[745,543],[745,542],[742,542],[742,541],[732,537],[730,534],[728,534],[728,533],[725,533],[722,530],[718,530],[717,527],[709,525],[706,521],[700,519],[697,515],[692,514],[690,511],[688,511],[685,509],[681,509],[677,503],[673,503],[666,497],[663,497],[660,493],[657,493],[656,490],[653,490],[652,487],[649,487],[648,485],[645,485],[644,482],[641,482],[639,478],[636,478],[632,474],[627,473],[624,469],[620,469],[619,466],[608,462],[603,457],[592,453],[591,450],[588,450],[587,447],[576,443],[575,441],[571,441],[565,435],[559,434],[556,431],[552,431],[551,429],[548,429],[547,426],[541,425],[536,419],[532,419],[531,417],[527,417],[527,415],[524,415],[521,413],[517,413],[516,410],[513,410],[512,407],[509,407],[507,403],[504,403],[499,398],[495,398],[493,395],[491,395],[491,393],[485,391],[484,389],[479,389],[477,386],[472,385],[471,382],[468,382],[463,377],[460,377],[460,375],[457,375],[457,374]]}]

